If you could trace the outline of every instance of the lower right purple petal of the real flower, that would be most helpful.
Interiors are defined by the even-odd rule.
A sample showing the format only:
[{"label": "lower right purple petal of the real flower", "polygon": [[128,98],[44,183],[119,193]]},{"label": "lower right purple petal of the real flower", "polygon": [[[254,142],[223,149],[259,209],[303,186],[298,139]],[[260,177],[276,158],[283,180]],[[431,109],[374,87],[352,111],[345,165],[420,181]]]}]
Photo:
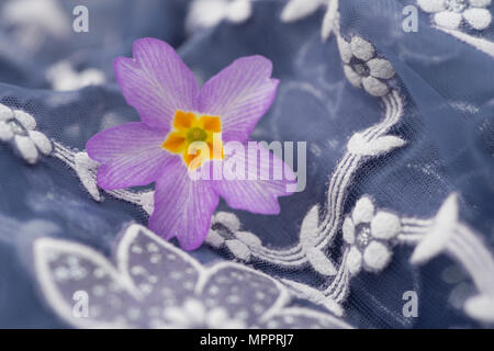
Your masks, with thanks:
[{"label": "lower right purple petal of the real flower", "polygon": [[[259,152],[260,157],[249,157],[247,151],[232,152],[228,145],[225,146],[227,156],[223,161],[225,179],[214,181],[216,192],[233,208],[258,214],[278,214],[278,197],[291,195],[296,190],[293,171],[268,150]],[[245,145],[244,149],[247,150]],[[244,172],[229,174],[228,165],[244,166]],[[281,177],[274,178],[273,174]]]}]

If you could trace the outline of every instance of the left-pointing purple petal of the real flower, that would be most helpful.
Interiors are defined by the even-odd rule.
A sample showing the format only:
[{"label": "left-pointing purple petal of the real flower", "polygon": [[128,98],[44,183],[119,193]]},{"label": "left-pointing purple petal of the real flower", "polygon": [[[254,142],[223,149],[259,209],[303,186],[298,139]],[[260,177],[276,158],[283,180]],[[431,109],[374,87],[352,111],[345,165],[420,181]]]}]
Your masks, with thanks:
[{"label": "left-pointing purple petal of the real flower", "polygon": [[161,148],[166,134],[133,122],[108,128],[86,144],[91,159],[102,163],[98,185],[105,190],[147,185],[176,156]]}]

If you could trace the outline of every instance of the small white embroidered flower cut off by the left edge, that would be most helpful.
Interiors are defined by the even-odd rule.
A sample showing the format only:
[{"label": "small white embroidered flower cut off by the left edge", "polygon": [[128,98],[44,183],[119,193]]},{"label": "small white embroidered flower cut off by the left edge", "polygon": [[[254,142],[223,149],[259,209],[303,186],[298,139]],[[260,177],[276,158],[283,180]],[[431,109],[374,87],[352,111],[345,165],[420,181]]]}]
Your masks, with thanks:
[{"label": "small white embroidered flower cut off by the left edge", "polygon": [[35,131],[36,121],[29,113],[0,104],[0,141],[11,143],[19,155],[31,165],[40,159],[40,154],[52,154],[52,141],[43,133]]}]

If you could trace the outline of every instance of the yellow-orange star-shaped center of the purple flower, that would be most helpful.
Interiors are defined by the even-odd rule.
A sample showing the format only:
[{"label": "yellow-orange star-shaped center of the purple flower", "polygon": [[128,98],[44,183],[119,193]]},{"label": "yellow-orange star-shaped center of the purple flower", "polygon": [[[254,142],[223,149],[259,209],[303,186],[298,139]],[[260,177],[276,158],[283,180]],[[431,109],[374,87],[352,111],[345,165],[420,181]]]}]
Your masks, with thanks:
[{"label": "yellow-orange star-shaped center of the purple flower", "polygon": [[182,155],[189,169],[199,168],[207,159],[223,159],[222,121],[218,116],[177,110],[171,131],[161,147]]}]

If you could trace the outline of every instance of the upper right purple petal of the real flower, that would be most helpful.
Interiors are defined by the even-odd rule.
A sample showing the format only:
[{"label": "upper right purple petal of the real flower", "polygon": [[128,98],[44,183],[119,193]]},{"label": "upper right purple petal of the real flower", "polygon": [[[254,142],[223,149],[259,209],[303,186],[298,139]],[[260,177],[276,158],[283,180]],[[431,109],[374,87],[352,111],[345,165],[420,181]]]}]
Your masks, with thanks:
[{"label": "upper right purple petal of the real flower", "polygon": [[200,111],[218,115],[223,140],[245,141],[271,106],[279,81],[271,79],[272,64],[262,56],[235,60],[201,90]]}]

